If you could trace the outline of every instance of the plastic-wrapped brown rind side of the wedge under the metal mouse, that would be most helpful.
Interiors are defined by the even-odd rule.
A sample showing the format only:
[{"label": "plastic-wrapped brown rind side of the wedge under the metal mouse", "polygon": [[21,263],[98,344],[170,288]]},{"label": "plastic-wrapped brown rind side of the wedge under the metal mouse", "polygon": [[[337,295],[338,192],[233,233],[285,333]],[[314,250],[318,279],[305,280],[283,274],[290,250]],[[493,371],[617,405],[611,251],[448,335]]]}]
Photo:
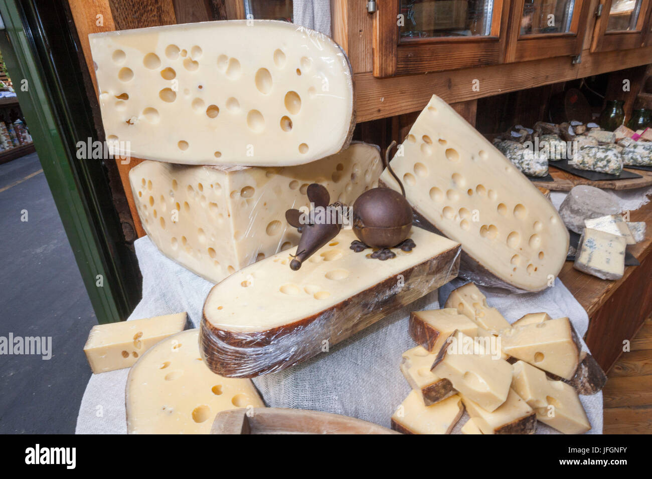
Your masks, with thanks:
[{"label": "plastic-wrapped brown rind side of the wedge under the metal mouse", "polygon": [[[218,328],[207,318],[200,329],[200,351],[211,370],[227,377],[256,377],[282,371],[434,291],[457,276],[460,246],[390,276],[346,300],[300,321],[263,331]],[[402,276],[402,281],[398,281]],[[216,285],[209,293],[218,294]]]}]

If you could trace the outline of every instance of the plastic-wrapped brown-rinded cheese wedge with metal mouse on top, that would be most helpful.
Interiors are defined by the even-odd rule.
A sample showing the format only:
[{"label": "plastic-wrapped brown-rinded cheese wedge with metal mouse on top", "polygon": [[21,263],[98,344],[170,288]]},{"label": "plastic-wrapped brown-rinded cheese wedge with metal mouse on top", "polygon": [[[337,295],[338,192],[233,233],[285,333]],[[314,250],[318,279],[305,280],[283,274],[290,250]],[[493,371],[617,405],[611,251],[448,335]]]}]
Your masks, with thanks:
[{"label": "plastic-wrapped brown-rinded cheese wedge with metal mouse on top", "polygon": [[458,243],[417,227],[409,237],[411,252],[380,261],[351,250],[356,237],[342,229],[297,271],[292,248],[231,274],[204,304],[207,364],[234,377],[284,370],[457,276]]}]

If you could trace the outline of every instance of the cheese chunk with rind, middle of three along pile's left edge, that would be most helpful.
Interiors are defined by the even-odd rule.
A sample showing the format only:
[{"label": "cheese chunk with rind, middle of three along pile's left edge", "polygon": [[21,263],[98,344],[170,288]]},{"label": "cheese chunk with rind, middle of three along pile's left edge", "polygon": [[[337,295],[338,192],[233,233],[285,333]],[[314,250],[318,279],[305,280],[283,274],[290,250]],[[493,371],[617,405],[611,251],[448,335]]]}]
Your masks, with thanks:
[{"label": "cheese chunk with rind, middle of three along pile's left edge", "polygon": [[426,406],[456,393],[451,381],[441,379],[430,371],[436,359],[436,354],[428,353],[424,347],[417,346],[403,353],[401,360],[401,372],[412,389],[421,391]]}]

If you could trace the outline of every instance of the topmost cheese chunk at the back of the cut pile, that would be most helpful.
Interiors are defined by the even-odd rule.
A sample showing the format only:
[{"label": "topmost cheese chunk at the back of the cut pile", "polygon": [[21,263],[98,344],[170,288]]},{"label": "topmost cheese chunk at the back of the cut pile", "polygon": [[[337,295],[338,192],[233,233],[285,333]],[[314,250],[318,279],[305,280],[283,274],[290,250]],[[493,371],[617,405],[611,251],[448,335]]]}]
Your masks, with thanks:
[{"label": "topmost cheese chunk at the back of the cut pile", "polygon": [[456,308],[458,313],[494,334],[510,327],[507,319],[496,308],[488,306],[486,296],[473,283],[454,289],[446,300],[446,307]]}]

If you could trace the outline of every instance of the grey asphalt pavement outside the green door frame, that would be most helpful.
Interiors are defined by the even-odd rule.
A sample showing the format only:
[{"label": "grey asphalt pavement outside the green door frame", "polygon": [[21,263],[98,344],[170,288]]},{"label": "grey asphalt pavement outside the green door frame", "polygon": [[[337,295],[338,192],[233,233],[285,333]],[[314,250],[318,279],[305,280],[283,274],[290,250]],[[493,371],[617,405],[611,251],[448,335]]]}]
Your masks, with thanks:
[{"label": "grey asphalt pavement outside the green door frame", "polygon": [[[0,265],[0,433],[72,434],[97,320],[36,153],[0,165]],[[10,334],[46,351],[7,354]]]}]

